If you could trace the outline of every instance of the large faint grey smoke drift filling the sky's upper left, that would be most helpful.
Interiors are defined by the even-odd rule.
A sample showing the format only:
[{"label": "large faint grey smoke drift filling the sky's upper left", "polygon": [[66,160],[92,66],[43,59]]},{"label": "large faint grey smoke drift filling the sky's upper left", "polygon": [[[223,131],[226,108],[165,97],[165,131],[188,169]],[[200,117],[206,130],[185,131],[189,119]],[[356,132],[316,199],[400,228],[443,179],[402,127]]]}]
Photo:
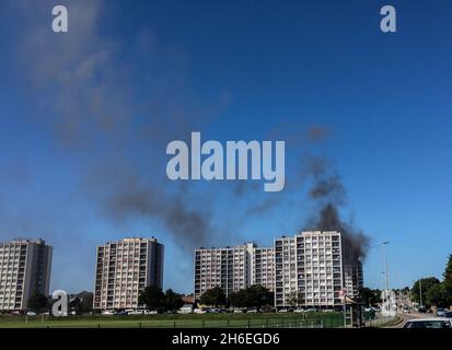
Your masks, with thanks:
[{"label": "large faint grey smoke drift filling the sky's upper left", "polygon": [[105,38],[103,1],[67,5],[71,24],[65,35],[48,30],[50,1],[27,5],[34,27],[18,54],[36,103],[48,115],[34,121],[51,130],[79,165],[81,194],[108,219],[151,218],[184,248],[207,243],[218,231],[206,209],[208,196],[177,183],[169,186],[165,147],[201,130],[228,104],[228,94],[213,102],[198,98],[184,50],[157,44],[151,32],[140,31],[131,43]]}]

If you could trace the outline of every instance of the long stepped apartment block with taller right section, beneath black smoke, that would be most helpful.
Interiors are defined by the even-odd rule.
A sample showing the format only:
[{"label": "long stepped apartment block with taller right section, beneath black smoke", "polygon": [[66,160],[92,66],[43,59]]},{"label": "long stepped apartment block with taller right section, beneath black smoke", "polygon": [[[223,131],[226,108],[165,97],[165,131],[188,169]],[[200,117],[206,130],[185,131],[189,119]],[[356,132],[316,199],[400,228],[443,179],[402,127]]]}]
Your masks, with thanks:
[{"label": "long stepped apartment block with taller right section, beneath black smoke", "polygon": [[362,265],[345,262],[341,234],[305,231],[275,240],[274,247],[244,244],[195,250],[195,299],[215,287],[227,295],[252,284],[275,293],[275,306],[341,306],[341,290],[357,298]]}]

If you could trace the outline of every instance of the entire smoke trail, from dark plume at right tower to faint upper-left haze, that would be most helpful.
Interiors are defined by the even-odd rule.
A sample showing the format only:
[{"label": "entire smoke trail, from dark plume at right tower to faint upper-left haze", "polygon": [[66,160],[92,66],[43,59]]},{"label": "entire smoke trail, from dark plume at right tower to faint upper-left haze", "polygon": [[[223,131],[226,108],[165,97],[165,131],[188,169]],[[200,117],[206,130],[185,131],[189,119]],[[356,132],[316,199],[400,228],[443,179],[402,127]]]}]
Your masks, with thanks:
[{"label": "entire smoke trail, from dark plume at right tower to faint upper-left haze", "polygon": [[[159,221],[183,247],[187,260],[192,258],[195,246],[218,244],[224,240],[230,240],[228,244],[236,243],[236,237],[230,232],[224,234],[225,225],[231,222],[224,217],[221,222],[216,218],[218,199],[209,186],[200,189],[187,184],[170,184],[165,175],[167,142],[186,140],[190,131],[207,129],[228,106],[230,93],[221,92],[208,102],[197,96],[184,49],[162,45],[152,32],[139,31],[126,43],[105,37],[101,28],[105,10],[103,1],[65,1],[70,12],[70,31],[65,35],[49,33],[53,1],[14,3],[24,16],[18,15],[18,23],[24,26],[16,40],[18,71],[23,74],[24,86],[32,96],[31,103],[37,109],[36,116],[27,117],[27,121],[51,135],[58,151],[63,158],[69,158],[67,163],[77,168],[70,189],[73,196],[84,197],[90,209],[100,211],[107,221]],[[300,130],[299,127],[288,129]],[[278,130],[269,139],[286,140],[288,149],[300,150],[322,142],[328,130],[316,126],[308,132],[282,130],[282,133],[277,133]],[[255,183],[241,182],[236,187],[231,186],[235,196],[233,200],[242,202],[245,197],[253,198],[243,210],[247,220],[281,206],[294,210],[294,205],[304,199],[300,195],[304,180],[308,175],[313,176],[314,186],[309,198],[320,209],[310,228],[340,231],[347,256],[350,259],[364,258],[369,240],[339,218],[338,209],[346,203],[346,190],[340,178],[332,175],[318,160],[310,164],[303,176],[295,176],[297,171],[289,173],[282,192],[262,194],[262,187]],[[61,202],[63,200],[67,199],[61,199]],[[63,210],[65,207],[59,206],[59,218]],[[71,221],[80,226],[66,230],[68,224],[61,221],[56,230],[50,230],[67,235],[58,241],[71,244],[81,242],[78,240],[80,235],[92,234],[91,231],[83,232],[89,229],[83,228],[86,218],[83,217],[84,210],[80,211],[80,217],[73,214],[77,218]],[[31,217],[39,217],[42,226],[51,226],[58,218],[53,210],[49,212],[48,218],[39,211]],[[97,212],[90,214],[98,220]],[[20,219],[23,221],[22,215]],[[27,232],[36,231],[35,221],[28,226]],[[12,234],[19,231],[18,228],[9,229]],[[48,231],[43,229],[40,232]],[[50,237],[47,241],[56,240]],[[90,249],[85,247],[85,250]]]}]

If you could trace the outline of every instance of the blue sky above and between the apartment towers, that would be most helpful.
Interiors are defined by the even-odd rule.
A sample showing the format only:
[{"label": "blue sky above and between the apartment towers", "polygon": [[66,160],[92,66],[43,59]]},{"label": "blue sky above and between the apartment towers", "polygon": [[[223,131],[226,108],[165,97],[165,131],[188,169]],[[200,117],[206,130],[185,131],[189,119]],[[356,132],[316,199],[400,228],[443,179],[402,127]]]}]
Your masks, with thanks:
[{"label": "blue sky above and between the apartment towers", "polygon": [[[391,285],[441,275],[452,246],[450,1],[393,1],[396,34],[380,31],[386,1],[60,2],[68,34],[51,32],[51,1],[0,4],[0,238],[53,244],[51,288],[92,289],[96,244],[155,235],[165,287],[190,292],[193,247],[270,245],[303,228],[315,210],[304,183],[279,195],[246,183],[236,195],[231,183],[165,182],[163,141],[192,130],[291,140],[289,184],[300,154],[328,159],[348,192],[343,218],[371,236],[366,284],[383,285],[385,240]],[[305,142],[313,127],[322,142]],[[162,207],[181,197],[208,213],[211,234],[181,236],[159,209],[109,208],[124,178]]]}]

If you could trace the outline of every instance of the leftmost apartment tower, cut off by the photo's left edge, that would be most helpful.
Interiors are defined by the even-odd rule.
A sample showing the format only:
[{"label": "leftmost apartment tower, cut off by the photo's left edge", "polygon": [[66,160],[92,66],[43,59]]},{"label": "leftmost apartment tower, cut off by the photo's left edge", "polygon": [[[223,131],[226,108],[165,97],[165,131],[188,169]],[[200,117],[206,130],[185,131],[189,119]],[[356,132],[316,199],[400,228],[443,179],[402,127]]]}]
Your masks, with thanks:
[{"label": "leftmost apartment tower, cut off by the photo's left edge", "polygon": [[51,254],[43,240],[0,243],[0,311],[26,310],[32,295],[48,295]]}]

